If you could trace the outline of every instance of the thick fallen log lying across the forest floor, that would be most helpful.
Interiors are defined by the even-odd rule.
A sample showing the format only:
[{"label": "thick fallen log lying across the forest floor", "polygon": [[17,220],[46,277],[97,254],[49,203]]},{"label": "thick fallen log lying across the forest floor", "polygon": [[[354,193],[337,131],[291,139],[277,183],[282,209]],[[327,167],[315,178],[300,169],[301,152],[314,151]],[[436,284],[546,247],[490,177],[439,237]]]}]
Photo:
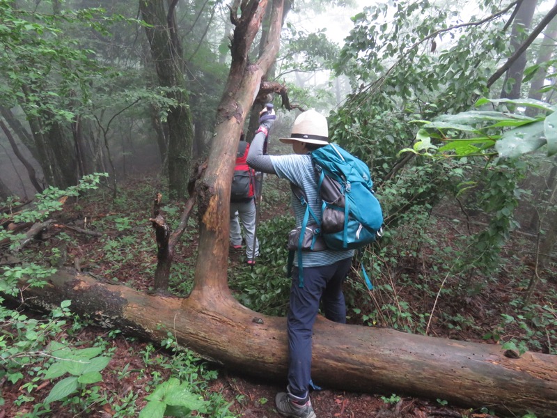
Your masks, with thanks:
[{"label": "thick fallen log lying across the forest floor", "polygon": [[[104,327],[155,341],[171,330],[181,346],[227,369],[285,380],[285,318],[251,311],[230,291],[202,294],[194,288],[187,298],[148,295],[59,271],[45,288],[26,288],[22,295],[27,304],[41,307],[70,299],[73,311]],[[510,358],[497,345],[318,318],[312,377],[331,389],[442,398],[465,408],[485,406],[502,416],[557,416],[557,356],[528,352]]]}]

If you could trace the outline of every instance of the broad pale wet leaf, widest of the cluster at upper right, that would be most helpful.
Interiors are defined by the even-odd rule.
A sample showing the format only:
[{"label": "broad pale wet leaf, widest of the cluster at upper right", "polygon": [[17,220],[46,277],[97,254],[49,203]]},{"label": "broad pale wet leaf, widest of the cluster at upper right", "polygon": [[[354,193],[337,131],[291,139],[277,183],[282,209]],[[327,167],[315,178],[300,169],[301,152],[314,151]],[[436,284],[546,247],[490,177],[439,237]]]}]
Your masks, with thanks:
[{"label": "broad pale wet leaf, widest of the cluster at upper right", "polygon": [[501,157],[515,158],[531,153],[545,143],[544,123],[535,122],[505,132],[496,142],[495,149]]}]

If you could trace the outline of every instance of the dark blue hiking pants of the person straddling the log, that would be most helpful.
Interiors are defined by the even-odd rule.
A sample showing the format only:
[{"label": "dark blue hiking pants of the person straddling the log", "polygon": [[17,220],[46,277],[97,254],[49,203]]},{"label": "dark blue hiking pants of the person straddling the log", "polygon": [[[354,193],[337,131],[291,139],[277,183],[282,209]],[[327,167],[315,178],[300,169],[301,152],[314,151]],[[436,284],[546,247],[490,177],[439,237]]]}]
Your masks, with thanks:
[{"label": "dark blue hiking pants of the person straddling the log", "polygon": [[304,267],[304,287],[299,287],[298,268],[292,270],[290,310],[288,311],[288,392],[306,397],[311,380],[311,334],[320,301],[325,318],[346,323],[346,304],[343,294],[352,257],[334,264]]}]

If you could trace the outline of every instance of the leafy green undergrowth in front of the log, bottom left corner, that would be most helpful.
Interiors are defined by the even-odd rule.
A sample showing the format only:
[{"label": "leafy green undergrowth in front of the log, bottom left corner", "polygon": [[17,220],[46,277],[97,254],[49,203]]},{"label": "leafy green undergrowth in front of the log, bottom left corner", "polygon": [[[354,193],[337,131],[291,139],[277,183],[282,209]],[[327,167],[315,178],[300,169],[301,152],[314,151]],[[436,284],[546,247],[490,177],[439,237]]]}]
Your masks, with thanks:
[{"label": "leafy green undergrowth in front of the log, bottom left corner", "polygon": [[[159,345],[138,345],[120,330],[91,340],[92,323],[70,309],[69,300],[44,316],[0,308],[0,378],[19,387],[10,416],[236,416],[221,393],[209,390],[217,371],[178,346],[171,332]],[[107,367],[111,362],[117,365]],[[0,405],[8,408],[2,392]]]}]

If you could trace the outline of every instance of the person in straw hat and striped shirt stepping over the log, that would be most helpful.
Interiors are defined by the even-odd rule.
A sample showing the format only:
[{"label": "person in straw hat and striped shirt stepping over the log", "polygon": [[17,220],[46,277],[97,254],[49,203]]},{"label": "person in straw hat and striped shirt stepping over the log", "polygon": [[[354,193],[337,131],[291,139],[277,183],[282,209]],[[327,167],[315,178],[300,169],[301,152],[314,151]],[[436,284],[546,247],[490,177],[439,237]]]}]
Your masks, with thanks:
[{"label": "person in straw hat and striped shirt stepping over the log", "polygon": [[[336,201],[326,202],[329,209],[334,210],[331,213],[336,220],[331,222],[335,226],[333,229],[327,234],[322,233],[322,214],[326,210],[322,200],[322,186],[329,183],[331,177],[320,176],[312,157],[316,151],[329,147],[327,119],[315,110],[304,111],[296,118],[290,137],[280,139],[281,142],[292,145],[294,154],[264,155],[263,147],[275,117],[272,109],[263,109],[260,127],[247,158],[248,165],[253,169],[276,174],[292,184],[291,200],[296,229],[290,232],[288,238],[291,254],[295,255],[292,257],[287,317],[288,386],[286,392],[276,395],[275,402],[278,412],[285,417],[316,418],[309,398],[313,323],[320,304],[325,318],[336,323],[346,323],[342,286],[352,266],[353,248],[356,247],[352,242],[365,235],[362,233],[364,229],[370,234],[370,240],[375,239],[383,219],[381,213],[377,215],[378,203],[375,205],[372,202],[374,208],[368,210],[375,212],[375,219],[371,222],[376,227],[375,230],[368,230],[367,226],[360,224],[351,233],[345,232],[349,219],[352,220],[349,216],[352,215],[352,202],[350,196],[346,195],[346,190],[350,192],[352,187],[347,183],[337,187],[343,195],[342,199],[337,196]],[[366,183],[366,180],[363,181]],[[357,190],[361,187],[363,186],[354,185]],[[343,230],[334,231],[339,224],[343,224]],[[329,247],[326,238],[329,238],[331,246],[336,247]]]}]

